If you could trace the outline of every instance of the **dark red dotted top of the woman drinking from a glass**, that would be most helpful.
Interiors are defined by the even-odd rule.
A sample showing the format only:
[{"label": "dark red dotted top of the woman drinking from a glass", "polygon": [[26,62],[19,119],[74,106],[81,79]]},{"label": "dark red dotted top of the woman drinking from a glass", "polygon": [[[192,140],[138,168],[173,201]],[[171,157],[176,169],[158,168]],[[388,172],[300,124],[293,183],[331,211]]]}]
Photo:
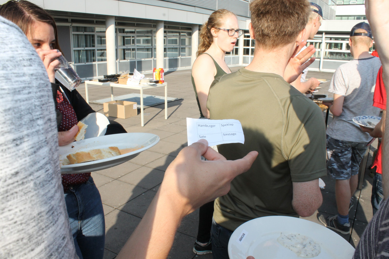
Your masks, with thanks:
[{"label": "dark red dotted top of the woman drinking from a glass", "polygon": [[[56,109],[62,114],[62,121],[60,129],[58,131],[70,130],[74,125],[78,123],[77,115],[69,103],[66,97],[63,97],[62,93],[57,91],[57,104]],[[86,183],[91,176],[91,173],[83,174],[62,174],[63,191],[66,193],[70,186]]]}]

